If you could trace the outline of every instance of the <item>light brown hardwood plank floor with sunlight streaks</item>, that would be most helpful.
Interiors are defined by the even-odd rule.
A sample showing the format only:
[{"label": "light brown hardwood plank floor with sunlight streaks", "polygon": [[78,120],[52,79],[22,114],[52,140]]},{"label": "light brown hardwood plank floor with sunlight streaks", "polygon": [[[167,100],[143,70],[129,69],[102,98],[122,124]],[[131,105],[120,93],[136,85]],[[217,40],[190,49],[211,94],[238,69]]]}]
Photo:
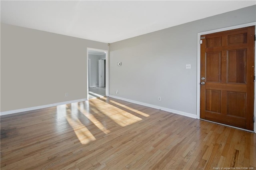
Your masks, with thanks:
[{"label": "light brown hardwood plank floor with sunlight streaks", "polygon": [[0,118],[1,170],[256,170],[256,134],[117,99]]}]

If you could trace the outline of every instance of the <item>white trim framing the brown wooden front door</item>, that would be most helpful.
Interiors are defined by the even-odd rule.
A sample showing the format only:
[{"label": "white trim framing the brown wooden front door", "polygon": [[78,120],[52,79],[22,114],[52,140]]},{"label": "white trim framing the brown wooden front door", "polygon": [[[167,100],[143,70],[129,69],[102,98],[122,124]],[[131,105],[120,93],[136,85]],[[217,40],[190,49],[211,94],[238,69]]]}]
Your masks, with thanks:
[{"label": "white trim framing the brown wooden front door", "polygon": [[[200,36],[205,35],[205,34],[212,34],[215,32],[222,32],[222,31],[228,31],[228,30],[234,30],[237,28],[244,28],[244,27],[249,27],[249,26],[256,26],[256,22],[250,22],[247,24],[241,24],[237,26],[230,26],[226,28],[220,28],[216,30],[210,30],[206,32],[199,32],[197,33],[197,94],[196,94],[196,119],[200,119]],[[256,32],[256,27],[255,27],[255,32]],[[256,46],[256,43],[255,43]],[[256,50],[254,54],[254,60],[256,63]],[[254,89],[256,89],[256,83],[254,83]],[[256,117],[256,92],[254,91],[254,117]],[[254,133],[256,133],[256,121],[254,122]]]}]

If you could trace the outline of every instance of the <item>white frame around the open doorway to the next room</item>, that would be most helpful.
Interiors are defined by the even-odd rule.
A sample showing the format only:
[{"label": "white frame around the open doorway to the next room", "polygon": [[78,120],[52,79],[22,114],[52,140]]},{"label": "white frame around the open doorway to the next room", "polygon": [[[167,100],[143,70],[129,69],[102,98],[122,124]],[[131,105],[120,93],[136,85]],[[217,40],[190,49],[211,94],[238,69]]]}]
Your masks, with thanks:
[{"label": "white frame around the open doorway to the next room", "polygon": [[109,96],[109,57],[108,57],[108,50],[104,49],[96,49],[96,48],[88,48],[87,47],[87,100],[89,99],[89,86],[88,86],[88,51],[94,50],[94,51],[103,51],[106,53],[106,96]]}]

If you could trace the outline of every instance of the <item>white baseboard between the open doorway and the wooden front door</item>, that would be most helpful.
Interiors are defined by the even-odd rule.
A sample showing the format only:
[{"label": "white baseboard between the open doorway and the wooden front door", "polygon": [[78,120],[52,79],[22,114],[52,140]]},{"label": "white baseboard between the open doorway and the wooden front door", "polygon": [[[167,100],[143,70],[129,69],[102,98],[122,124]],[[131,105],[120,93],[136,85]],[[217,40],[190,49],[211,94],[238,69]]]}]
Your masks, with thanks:
[{"label": "white baseboard between the open doorway and the wooden front door", "polygon": [[150,105],[148,103],[142,103],[140,101],[134,101],[134,100],[125,99],[125,98],[118,97],[118,96],[113,96],[113,95],[109,95],[109,97],[112,97],[112,98],[115,98],[115,99],[119,99],[119,100],[123,100],[123,101],[128,101],[130,103],[135,103],[135,104],[142,105],[142,106],[152,107],[154,109],[161,109],[163,111],[167,111],[167,112],[171,112],[171,113],[175,113],[175,114],[178,114],[178,115],[182,115],[182,116],[191,117],[191,118],[196,119],[196,115],[191,114],[191,113],[186,113],[186,112],[182,112],[182,111],[168,109],[168,108],[160,107],[160,106],[156,106],[156,105]]}]

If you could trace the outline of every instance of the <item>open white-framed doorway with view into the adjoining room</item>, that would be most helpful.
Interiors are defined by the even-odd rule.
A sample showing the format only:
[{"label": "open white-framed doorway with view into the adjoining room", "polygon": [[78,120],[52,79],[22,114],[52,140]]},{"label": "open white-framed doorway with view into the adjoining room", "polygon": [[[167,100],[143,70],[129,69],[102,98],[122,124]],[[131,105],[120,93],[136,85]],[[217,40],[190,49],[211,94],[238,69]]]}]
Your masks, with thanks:
[{"label": "open white-framed doorway with view into the adjoining room", "polygon": [[108,96],[108,51],[87,48],[87,99]]}]

